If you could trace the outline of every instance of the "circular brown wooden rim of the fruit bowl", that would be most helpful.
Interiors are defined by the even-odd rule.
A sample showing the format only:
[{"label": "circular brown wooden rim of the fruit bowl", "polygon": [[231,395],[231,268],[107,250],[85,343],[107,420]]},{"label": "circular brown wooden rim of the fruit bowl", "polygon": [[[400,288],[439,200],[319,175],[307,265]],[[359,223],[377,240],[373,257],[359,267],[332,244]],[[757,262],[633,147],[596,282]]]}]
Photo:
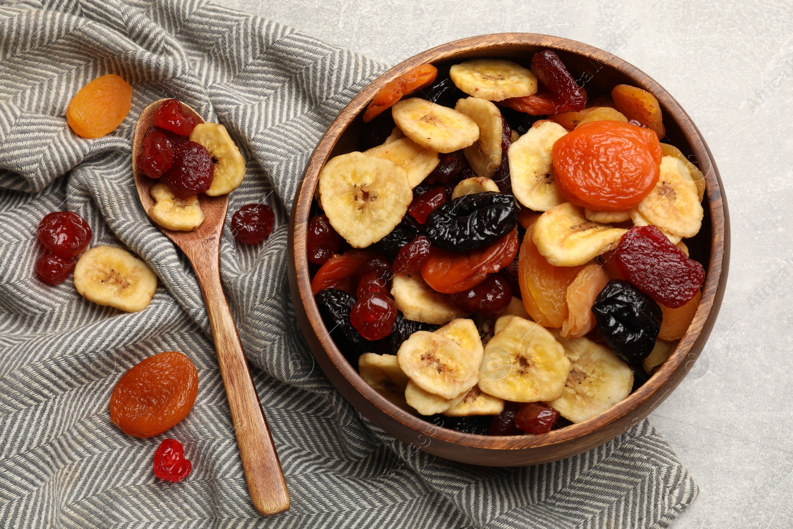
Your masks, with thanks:
[{"label": "circular brown wooden rim of the fruit bowl", "polygon": [[[630,421],[630,425],[624,429],[624,431],[627,431],[630,427],[633,427],[634,424],[638,424],[638,421],[648,415],[658,404],[661,404],[661,401],[668,397],[669,393],[672,393],[672,390],[675,389],[676,385],[683,378],[683,376],[680,376],[677,381],[672,380],[677,370],[682,366],[686,373],[688,373],[694,365],[696,358],[699,356],[699,351],[701,351],[713,327],[715,316],[718,313],[718,307],[721,305],[724,289],[726,287],[726,276],[729,269],[730,255],[730,225],[721,178],[718,174],[718,169],[716,168],[711,151],[707,147],[699,129],[696,128],[691,117],[689,117],[682,106],[672,98],[671,94],[659,83],[650,78],[649,75],[646,75],[643,71],[638,70],[638,68],[627,63],[625,60],[612,55],[610,52],[580,43],[576,40],[539,33],[492,33],[488,35],[471,36],[441,44],[435,48],[420,52],[409,59],[405,59],[388,71],[377,76],[376,79],[358,92],[358,94],[352,98],[351,102],[339,112],[338,116],[335,117],[335,120],[318,142],[315,151],[308,160],[303,178],[297,186],[295,200],[293,201],[292,216],[290,218],[289,240],[290,242],[294,240],[305,242],[308,213],[320,170],[324,167],[324,163],[330,158],[331,151],[335,148],[343,132],[351,125],[354,119],[366,109],[366,105],[369,104],[374,94],[377,93],[377,90],[380,90],[387,82],[396,79],[399,75],[418,64],[439,63],[450,59],[462,59],[466,54],[473,57],[473,55],[471,55],[473,52],[482,52],[485,51],[486,48],[492,48],[496,45],[502,47],[509,47],[511,45],[531,45],[541,48],[550,48],[556,51],[584,56],[587,59],[594,60],[596,64],[601,65],[600,67],[603,67],[602,65],[607,65],[615,71],[619,71],[621,74],[626,75],[626,77],[631,79],[631,82],[634,83],[634,86],[640,86],[653,94],[653,96],[661,102],[661,106],[665,113],[665,119],[672,119],[680,126],[680,130],[689,148],[691,148],[691,151],[695,155],[696,163],[706,178],[706,196],[708,198],[711,215],[711,258],[707,266],[707,275],[703,285],[703,294],[699,301],[699,306],[696,309],[691,325],[683,338],[680,339],[680,343],[677,344],[672,355],[669,356],[661,368],[659,368],[657,372],[653,374],[652,378],[642,385],[642,387],[634,393],[631,393],[628,397],[623,399],[623,401],[607,409],[605,412],[592,417],[592,419],[578,424],[572,424],[558,430],[553,430],[543,435],[496,436],[468,434],[436,426],[410,412],[404,411],[396,404],[393,404],[385,397],[381,396],[380,393],[377,393],[370,385],[363,381],[358,372],[354,370],[353,366],[343,357],[338,347],[335,346],[335,343],[328,335],[328,330],[324,327],[311,290],[311,278],[308,273],[308,259],[305,243],[292,244],[289,249],[291,254],[290,259],[294,259],[294,271],[297,274],[296,286],[300,296],[300,300],[295,301],[299,301],[303,305],[312,330],[316,338],[320,341],[325,354],[328,355],[328,358],[330,358],[335,366],[335,369],[347,379],[362,397],[370,401],[370,404],[375,408],[379,408],[381,412],[390,416],[391,419],[396,420],[420,434],[427,435],[433,439],[439,439],[446,443],[485,450],[525,450],[534,447],[549,447],[560,445],[561,443],[568,443],[574,439],[579,439],[584,435],[592,434],[595,431],[603,429],[607,424],[612,424],[617,420],[623,419],[623,417],[630,415],[630,413],[640,405],[646,404],[646,401],[655,398],[656,401],[650,403],[649,411],[644,416],[634,418],[634,420]],[[486,52],[485,56],[487,56]],[[496,54],[494,53],[492,56],[496,56]],[[600,70],[600,67],[598,70]],[[311,186],[311,193],[303,191],[307,183]],[[695,344],[699,347],[692,350]],[[653,384],[651,384],[651,382],[653,382]],[[672,383],[671,387],[665,387],[670,383]],[[656,395],[657,389],[661,388],[665,388],[665,391],[660,395]],[[603,441],[603,443],[607,442],[607,440]],[[598,445],[593,445],[592,447],[595,446]],[[592,447],[585,448],[585,450]]]}]

